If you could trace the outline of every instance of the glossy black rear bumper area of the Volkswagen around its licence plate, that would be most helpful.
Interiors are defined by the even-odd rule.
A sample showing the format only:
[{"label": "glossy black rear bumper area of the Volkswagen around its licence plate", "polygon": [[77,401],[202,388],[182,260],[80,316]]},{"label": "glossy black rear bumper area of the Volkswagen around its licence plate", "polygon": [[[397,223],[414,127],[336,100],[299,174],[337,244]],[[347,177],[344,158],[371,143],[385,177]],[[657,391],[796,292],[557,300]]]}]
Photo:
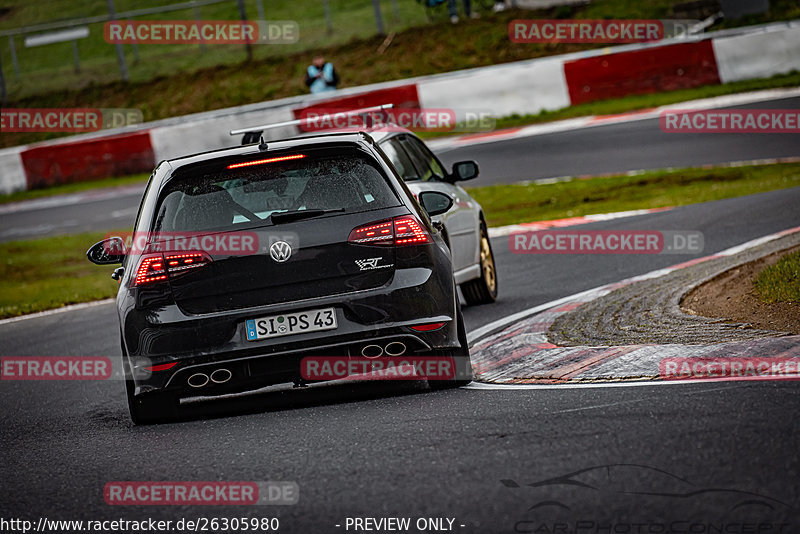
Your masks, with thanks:
[{"label": "glossy black rear bumper area of the Volkswagen around its licence plate", "polygon": [[[130,295],[127,300],[122,295],[118,304],[137,395],[158,390],[213,395],[299,381],[304,357],[360,356],[369,344],[399,341],[407,355],[457,348],[454,291],[449,269],[415,267],[398,269],[376,289],[234,312],[188,315],[174,304],[138,310]],[[328,307],[336,311],[335,330],[247,340],[248,319]],[[438,330],[411,328],[441,322],[445,325]],[[145,370],[171,363],[170,369]],[[194,374],[210,376],[220,368],[230,371],[229,380],[197,388],[188,384]]]}]

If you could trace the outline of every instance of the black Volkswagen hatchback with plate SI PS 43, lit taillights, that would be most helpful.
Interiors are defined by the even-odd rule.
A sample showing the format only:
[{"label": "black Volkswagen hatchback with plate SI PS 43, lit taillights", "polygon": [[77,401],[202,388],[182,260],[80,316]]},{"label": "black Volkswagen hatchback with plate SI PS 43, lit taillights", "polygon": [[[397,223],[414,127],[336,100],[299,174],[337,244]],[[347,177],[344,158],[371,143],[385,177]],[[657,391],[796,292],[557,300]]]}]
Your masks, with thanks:
[{"label": "black Volkswagen hatchback with plate SI PS 43, lit taillights", "polygon": [[[454,167],[454,172],[457,172]],[[365,132],[161,162],[133,238],[87,252],[122,263],[117,311],[131,418],[180,399],[314,381],[304,358],[435,357],[472,377],[450,252]]]}]

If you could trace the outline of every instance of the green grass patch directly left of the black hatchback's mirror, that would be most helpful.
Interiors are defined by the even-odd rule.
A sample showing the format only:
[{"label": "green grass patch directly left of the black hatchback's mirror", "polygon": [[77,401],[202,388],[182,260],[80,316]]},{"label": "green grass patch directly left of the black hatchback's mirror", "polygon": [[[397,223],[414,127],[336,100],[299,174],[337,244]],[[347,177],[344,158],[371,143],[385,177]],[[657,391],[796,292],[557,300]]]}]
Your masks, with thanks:
[{"label": "green grass patch directly left of the black hatchback's mirror", "polygon": [[86,249],[108,232],[0,243],[0,318],[112,297],[114,266],[94,265]]}]

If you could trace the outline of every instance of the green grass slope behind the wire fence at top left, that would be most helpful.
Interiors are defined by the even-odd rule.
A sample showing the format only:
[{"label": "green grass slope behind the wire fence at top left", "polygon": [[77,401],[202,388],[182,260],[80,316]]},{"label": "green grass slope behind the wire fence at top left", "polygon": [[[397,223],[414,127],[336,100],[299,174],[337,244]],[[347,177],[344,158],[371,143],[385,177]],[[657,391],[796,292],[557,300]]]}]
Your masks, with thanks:
[{"label": "green grass slope behind the wire fence at top left", "polygon": [[[273,58],[299,51],[314,50],[346,43],[352,39],[368,38],[376,33],[375,17],[371,0],[329,0],[332,32],[328,32],[321,0],[262,0],[268,20],[294,20],[300,28],[300,41],[296,44],[258,45],[253,47],[255,59]],[[179,3],[176,0],[115,0],[118,13],[147,7],[166,6]],[[255,0],[245,0],[247,17],[258,18]],[[401,31],[411,26],[426,23],[425,11],[414,0],[398,0],[396,18],[390,2],[383,2],[382,15],[387,31]],[[0,18],[0,28],[41,24],[58,20],[104,15],[108,13],[106,0],[37,0],[7,2],[4,7],[10,12]],[[238,20],[236,0],[201,6],[198,8],[204,20]],[[57,14],[57,17],[54,17]],[[192,9],[173,11],[137,20],[193,20]],[[8,38],[0,43],[3,66],[6,68],[9,91],[12,95],[34,94],[59,88],[74,88],[87,83],[108,83],[118,80],[120,70],[115,47],[103,38],[103,23],[89,24],[89,37],[78,41],[81,57],[81,72],[74,72],[73,52],[70,42],[26,48],[23,38],[15,37],[15,49],[19,58],[21,76],[13,75]],[[138,45],[139,61],[136,61],[133,45],[123,45],[130,77],[134,82],[174,74],[176,71],[198,70],[218,65],[233,65],[246,58],[243,45],[198,44],[142,44]]]}]

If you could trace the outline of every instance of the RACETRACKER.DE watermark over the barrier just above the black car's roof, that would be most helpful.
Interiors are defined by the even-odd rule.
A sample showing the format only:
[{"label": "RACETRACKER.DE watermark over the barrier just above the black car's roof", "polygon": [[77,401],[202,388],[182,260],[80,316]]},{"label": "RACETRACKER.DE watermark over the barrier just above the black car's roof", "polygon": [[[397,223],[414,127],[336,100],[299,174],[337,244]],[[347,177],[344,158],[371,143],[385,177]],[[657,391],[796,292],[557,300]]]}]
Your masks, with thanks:
[{"label": "RACETRACKER.DE watermark over the barrier just above the black car's roof", "polygon": [[314,108],[299,113],[303,131],[358,131],[364,128],[382,131],[415,132],[490,132],[497,120],[488,111],[467,110],[457,114],[451,108],[390,108],[381,111],[352,113],[340,108]]}]

